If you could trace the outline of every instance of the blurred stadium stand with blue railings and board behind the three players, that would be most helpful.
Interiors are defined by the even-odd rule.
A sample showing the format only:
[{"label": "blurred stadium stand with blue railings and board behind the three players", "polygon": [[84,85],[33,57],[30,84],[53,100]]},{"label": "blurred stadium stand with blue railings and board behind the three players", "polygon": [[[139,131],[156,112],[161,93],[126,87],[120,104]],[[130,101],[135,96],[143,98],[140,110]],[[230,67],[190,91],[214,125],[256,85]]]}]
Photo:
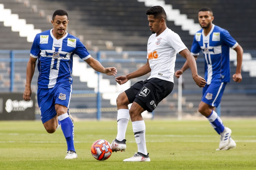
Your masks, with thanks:
[{"label": "blurred stadium stand with blue railings and board behind the three players", "polygon": [[[147,40],[152,34],[146,10],[160,5],[167,14],[167,27],[179,34],[190,50],[193,36],[201,27],[198,10],[213,10],[215,25],[229,31],[244,50],[241,83],[232,80],[236,52],[230,49],[231,80],[217,112],[226,117],[252,117],[256,113],[256,2],[249,0],[0,0],[0,120],[39,120],[36,68],[32,100],[22,98],[26,65],[37,33],[52,28],[53,12],[69,15],[67,32],[78,37],[104,67],[114,66],[118,75],[133,72],[147,61]],[[185,59],[177,54],[175,70]],[[204,58],[199,55],[198,73],[204,76]],[[99,74],[79,57],[73,62],[73,93],[69,111],[75,119],[116,119],[116,97],[149,74],[118,85],[113,76]],[[172,93],[144,118],[198,118],[202,89],[190,70],[183,74],[180,89],[174,78]],[[178,94],[180,92],[180,94]]]}]

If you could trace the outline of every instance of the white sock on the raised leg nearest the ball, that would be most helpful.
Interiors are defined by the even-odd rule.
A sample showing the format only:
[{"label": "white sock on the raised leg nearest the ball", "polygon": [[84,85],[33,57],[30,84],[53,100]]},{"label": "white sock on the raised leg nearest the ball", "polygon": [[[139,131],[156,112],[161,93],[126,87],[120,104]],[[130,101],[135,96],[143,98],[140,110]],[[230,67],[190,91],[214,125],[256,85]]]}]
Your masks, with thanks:
[{"label": "white sock on the raised leg nearest the ball", "polygon": [[129,109],[119,109],[117,111],[117,135],[116,140],[122,141],[125,139],[125,133],[129,122]]}]

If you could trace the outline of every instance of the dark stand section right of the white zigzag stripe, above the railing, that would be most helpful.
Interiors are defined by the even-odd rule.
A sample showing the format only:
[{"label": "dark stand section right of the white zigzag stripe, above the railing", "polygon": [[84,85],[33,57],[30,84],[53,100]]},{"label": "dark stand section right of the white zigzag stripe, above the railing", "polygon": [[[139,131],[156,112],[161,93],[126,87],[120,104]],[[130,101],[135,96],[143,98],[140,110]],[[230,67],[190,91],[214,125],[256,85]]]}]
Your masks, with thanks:
[{"label": "dark stand section right of the white zigzag stripe, above the railing", "polygon": [[[213,10],[215,25],[226,30],[239,42],[244,50],[255,50],[256,37],[256,2],[250,0],[165,0],[173,8],[180,9],[182,14],[187,14],[198,23],[198,11],[202,7]],[[190,47],[190,46],[188,46]]]}]

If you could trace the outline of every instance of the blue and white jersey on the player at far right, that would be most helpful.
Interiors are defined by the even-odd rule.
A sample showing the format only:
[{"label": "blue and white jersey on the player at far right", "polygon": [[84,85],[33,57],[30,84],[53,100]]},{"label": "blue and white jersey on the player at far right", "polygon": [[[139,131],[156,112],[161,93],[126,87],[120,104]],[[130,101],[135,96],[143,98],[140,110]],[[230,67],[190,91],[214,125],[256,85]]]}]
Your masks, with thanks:
[{"label": "blue and white jersey on the player at far right", "polygon": [[191,53],[199,55],[202,50],[205,57],[205,80],[211,82],[230,82],[229,49],[234,49],[238,43],[227,30],[212,24],[207,36],[203,29],[194,36]]}]

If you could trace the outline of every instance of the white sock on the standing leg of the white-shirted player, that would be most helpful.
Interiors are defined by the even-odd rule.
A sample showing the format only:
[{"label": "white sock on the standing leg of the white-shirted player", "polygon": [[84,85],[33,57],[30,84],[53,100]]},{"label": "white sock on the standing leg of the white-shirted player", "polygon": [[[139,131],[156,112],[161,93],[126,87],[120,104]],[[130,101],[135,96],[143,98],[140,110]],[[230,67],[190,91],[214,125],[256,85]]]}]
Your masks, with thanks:
[{"label": "white sock on the standing leg of the white-shirted player", "polygon": [[143,153],[144,155],[147,155],[146,137],[145,137],[146,125],[144,120],[132,122],[132,129],[133,129],[136,143],[138,145],[138,152]]}]

